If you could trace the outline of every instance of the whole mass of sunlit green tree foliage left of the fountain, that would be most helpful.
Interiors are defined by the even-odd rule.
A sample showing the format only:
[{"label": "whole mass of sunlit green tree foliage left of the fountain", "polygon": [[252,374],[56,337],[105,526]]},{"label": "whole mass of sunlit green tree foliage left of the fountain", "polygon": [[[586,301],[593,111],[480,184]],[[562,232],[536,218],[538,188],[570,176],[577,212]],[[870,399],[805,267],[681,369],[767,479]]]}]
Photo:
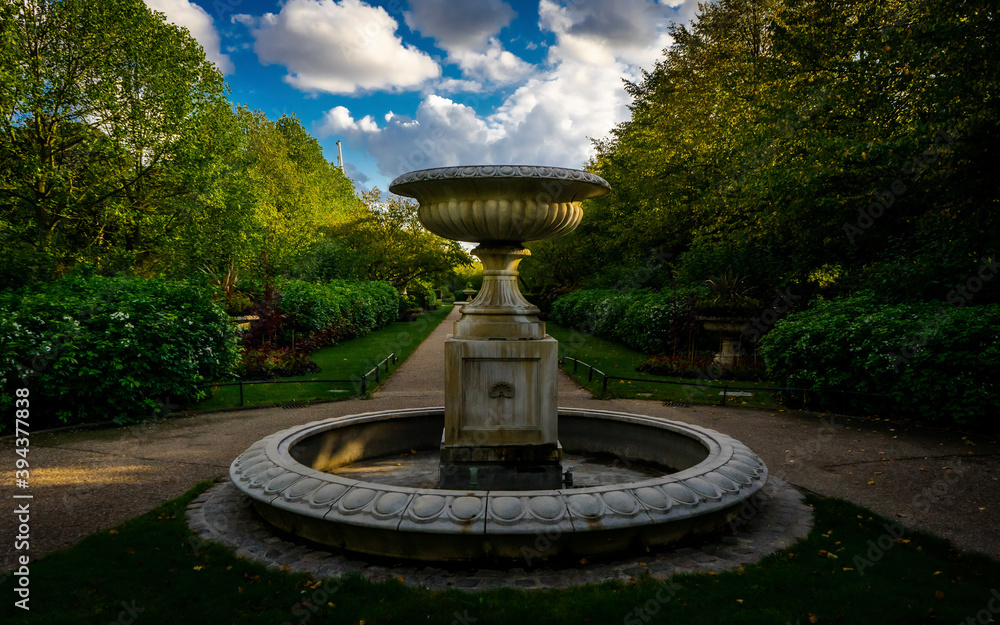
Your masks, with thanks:
[{"label": "whole mass of sunlit green tree foliage left of the fountain", "polygon": [[0,6],[0,282],[298,262],[359,209],[298,119],[235,108],[142,0]]}]

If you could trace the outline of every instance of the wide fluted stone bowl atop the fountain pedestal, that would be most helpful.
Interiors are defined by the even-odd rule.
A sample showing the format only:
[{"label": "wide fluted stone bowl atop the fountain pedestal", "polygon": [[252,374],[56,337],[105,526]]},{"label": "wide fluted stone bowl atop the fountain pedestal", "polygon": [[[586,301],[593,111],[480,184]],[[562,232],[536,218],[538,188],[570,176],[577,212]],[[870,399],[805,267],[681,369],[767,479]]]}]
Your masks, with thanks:
[{"label": "wide fluted stone bowl atop the fountain pedestal", "polygon": [[568,234],[583,217],[580,202],[610,189],[590,172],[529,165],[422,169],[389,185],[420,203],[420,222],[434,234],[514,244]]}]

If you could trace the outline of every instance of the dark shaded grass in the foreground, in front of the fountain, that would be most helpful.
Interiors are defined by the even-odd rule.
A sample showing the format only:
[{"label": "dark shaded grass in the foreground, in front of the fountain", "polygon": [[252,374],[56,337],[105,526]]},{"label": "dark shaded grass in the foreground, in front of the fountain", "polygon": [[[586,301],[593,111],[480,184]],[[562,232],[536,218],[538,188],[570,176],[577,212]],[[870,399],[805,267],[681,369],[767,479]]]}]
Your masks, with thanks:
[{"label": "dark shaded grass in the foreground, in front of the fountain", "polygon": [[[845,501],[809,497],[816,524],[803,542],[738,571],[677,576],[669,586],[640,576],[565,590],[463,593],[354,576],[313,580],[267,570],[192,534],[185,507],[208,486],[31,562],[30,613],[13,606],[18,578],[6,576],[0,621],[105,625],[119,622],[124,604],[142,610],[136,625],[451,624],[462,618],[477,625],[951,624],[988,610],[1000,579],[1000,563],[916,532],[889,541],[886,519]],[[877,550],[880,538],[887,549]]]}]

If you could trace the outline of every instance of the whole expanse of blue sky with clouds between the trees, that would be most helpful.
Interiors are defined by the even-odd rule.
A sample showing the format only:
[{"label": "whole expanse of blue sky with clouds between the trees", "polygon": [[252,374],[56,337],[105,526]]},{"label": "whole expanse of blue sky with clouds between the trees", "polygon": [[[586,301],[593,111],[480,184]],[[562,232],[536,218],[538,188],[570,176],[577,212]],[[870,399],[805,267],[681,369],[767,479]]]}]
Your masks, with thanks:
[{"label": "whole expanse of blue sky with clouds between the trees", "polygon": [[232,100],[294,114],[356,185],[458,164],[582,167],[695,0],[145,0]]}]

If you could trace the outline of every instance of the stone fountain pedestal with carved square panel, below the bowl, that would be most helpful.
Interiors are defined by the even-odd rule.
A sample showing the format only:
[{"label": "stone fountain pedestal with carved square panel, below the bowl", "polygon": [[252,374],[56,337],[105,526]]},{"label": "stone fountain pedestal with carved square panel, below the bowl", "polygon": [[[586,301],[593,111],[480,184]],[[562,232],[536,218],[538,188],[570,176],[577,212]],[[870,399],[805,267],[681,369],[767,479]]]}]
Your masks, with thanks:
[{"label": "stone fountain pedestal with carved square panel, below the bowl", "polygon": [[441,488],[562,486],[559,346],[517,288],[520,246],[480,246],[483,288],[445,340]]}]

